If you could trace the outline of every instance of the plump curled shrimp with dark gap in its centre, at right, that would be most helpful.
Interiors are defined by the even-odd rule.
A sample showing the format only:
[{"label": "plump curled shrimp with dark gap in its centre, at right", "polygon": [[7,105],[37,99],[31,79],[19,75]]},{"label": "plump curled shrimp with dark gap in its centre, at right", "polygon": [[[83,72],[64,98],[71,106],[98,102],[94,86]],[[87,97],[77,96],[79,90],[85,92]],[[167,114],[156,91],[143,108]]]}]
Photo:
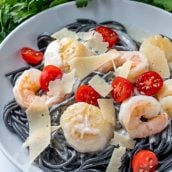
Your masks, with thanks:
[{"label": "plump curled shrimp with dark gap in its centre, at right", "polygon": [[155,98],[139,95],[121,104],[119,121],[130,137],[145,138],[165,129],[169,118]]}]

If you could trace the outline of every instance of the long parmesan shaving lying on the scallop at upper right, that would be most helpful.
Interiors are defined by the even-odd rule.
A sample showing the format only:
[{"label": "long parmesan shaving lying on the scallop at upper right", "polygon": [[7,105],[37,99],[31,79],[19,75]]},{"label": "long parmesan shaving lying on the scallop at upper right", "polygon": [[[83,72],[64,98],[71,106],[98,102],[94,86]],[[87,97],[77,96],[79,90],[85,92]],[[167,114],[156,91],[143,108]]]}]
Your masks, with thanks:
[{"label": "long parmesan shaving lying on the scallop at upper right", "polygon": [[170,70],[164,51],[150,43],[143,44],[140,51],[147,57],[150,70],[159,73],[162,78],[170,77]]}]

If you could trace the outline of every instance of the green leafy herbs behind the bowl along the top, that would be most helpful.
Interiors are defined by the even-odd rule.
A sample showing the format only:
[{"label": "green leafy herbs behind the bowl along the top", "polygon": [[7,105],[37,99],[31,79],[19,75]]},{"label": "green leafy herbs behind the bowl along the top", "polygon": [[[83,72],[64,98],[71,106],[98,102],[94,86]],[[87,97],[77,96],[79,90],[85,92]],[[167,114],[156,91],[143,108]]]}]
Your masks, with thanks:
[{"label": "green leafy herbs behind the bowl along the top", "polygon": [[[20,23],[53,6],[72,0],[0,0],[0,42]],[[91,0],[75,0],[78,8]],[[136,0],[172,12],[172,0]]]}]

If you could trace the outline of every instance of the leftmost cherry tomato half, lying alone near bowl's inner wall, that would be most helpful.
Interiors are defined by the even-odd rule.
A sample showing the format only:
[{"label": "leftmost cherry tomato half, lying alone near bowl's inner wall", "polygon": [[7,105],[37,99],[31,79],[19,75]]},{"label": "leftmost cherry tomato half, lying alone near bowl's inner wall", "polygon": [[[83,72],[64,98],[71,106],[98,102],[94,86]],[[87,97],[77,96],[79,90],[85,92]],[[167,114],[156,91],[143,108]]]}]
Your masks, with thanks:
[{"label": "leftmost cherry tomato half, lying alone near bowl's inner wall", "polygon": [[43,59],[43,53],[32,48],[24,47],[20,51],[22,58],[29,64],[37,65]]}]

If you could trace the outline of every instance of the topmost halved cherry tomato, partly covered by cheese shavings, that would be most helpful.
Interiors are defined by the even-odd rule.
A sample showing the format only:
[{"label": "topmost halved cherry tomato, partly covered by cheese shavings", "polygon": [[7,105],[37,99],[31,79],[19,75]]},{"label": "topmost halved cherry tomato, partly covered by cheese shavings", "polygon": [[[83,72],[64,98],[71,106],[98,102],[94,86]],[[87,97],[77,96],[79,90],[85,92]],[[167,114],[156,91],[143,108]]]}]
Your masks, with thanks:
[{"label": "topmost halved cherry tomato, partly covered by cheese shavings", "polygon": [[113,47],[118,41],[118,35],[112,29],[106,26],[98,26],[96,32],[103,36],[103,40],[109,43],[109,48]]}]

